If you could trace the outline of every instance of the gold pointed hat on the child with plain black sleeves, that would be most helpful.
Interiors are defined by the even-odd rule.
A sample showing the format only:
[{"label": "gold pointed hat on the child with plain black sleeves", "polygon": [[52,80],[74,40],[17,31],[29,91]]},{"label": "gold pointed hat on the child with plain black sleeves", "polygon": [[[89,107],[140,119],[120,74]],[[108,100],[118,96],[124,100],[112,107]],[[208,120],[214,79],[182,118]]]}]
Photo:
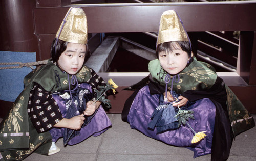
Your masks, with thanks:
[{"label": "gold pointed hat on the child with plain black sleeves", "polygon": [[182,22],[174,10],[165,11],[161,16],[157,45],[170,41],[189,41]]}]

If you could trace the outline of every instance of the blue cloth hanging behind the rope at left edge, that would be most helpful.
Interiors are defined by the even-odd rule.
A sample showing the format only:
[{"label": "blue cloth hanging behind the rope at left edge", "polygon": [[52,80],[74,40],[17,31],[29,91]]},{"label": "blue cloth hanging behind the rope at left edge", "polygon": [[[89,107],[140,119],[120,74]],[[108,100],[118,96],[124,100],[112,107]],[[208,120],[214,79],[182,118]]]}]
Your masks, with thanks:
[{"label": "blue cloth hanging behind the rope at left edge", "polygon": [[[11,52],[0,51],[0,63],[22,62],[29,63],[36,61],[35,52]],[[0,65],[0,67],[18,66],[18,65]],[[36,66],[33,66],[35,69]],[[16,69],[0,70],[0,99],[14,102],[20,92],[24,89],[23,79],[30,73],[30,67]]]}]

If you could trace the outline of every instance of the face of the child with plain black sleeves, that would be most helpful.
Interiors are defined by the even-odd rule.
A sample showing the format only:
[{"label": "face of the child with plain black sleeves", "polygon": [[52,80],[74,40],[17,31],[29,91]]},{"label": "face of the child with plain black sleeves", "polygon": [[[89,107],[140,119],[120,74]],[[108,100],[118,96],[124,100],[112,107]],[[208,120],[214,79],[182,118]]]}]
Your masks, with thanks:
[{"label": "face of the child with plain black sleeves", "polygon": [[172,51],[159,52],[159,61],[162,68],[169,74],[175,75],[181,72],[187,65],[189,57],[179,45],[175,45]]}]

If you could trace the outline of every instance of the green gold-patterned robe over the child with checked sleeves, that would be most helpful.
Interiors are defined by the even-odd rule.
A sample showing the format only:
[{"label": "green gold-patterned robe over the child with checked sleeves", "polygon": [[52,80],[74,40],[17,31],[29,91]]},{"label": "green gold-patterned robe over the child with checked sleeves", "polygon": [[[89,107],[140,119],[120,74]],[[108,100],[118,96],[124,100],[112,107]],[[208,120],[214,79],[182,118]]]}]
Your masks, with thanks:
[{"label": "green gold-patterned robe over the child with checked sleeves", "polygon": [[[76,77],[78,83],[87,82],[91,78],[89,68],[83,66]],[[0,124],[0,160],[23,160],[34,151],[48,155],[52,136],[49,131],[38,133],[27,112],[29,94],[34,82],[49,92],[69,89],[67,74],[62,73],[50,60],[48,64],[36,68],[24,78],[25,89],[13,103],[9,116]]]}]

